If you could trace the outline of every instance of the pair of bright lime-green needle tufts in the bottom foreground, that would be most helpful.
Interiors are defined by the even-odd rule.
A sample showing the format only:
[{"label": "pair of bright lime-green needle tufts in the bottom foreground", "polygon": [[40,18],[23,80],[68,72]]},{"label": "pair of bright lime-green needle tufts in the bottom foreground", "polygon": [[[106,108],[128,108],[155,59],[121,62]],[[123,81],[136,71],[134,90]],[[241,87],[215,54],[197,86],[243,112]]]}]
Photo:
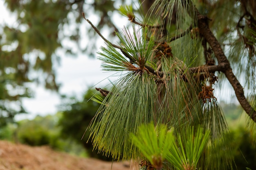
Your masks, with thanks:
[{"label": "pair of bright lime-green needle tufts in the bottom foreground", "polygon": [[[166,125],[153,123],[141,125],[136,134],[130,134],[132,142],[158,170],[168,161],[177,170],[196,170],[202,152],[209,141],[210,132],[190,127],[176,137]],[[175,141],[178,141],[177,144]]]}]

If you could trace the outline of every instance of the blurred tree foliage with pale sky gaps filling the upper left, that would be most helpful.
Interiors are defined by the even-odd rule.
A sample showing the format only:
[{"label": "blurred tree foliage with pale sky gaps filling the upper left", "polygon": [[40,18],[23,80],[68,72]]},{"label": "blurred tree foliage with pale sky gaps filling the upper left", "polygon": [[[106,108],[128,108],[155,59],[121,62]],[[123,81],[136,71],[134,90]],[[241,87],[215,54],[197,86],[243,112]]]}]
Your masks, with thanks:
[{"label": "blurred tree foliage with pale sky gaps filling the upper left", "polygon": [[13,121],[16,114],[26,113],[21,101],[33,97],[30,83],[58,91],[54,66],[61,56],[57,49],[92,55],[97,38],[92,38],[95,33],[88,29],[90,43],[83,40],[83,11],[86,16],[96,14],[100,30],[107,26],[110,35],[117,30],[111,18],[116,11],[112,0],[4,0],[4,4],[16,21],[0,24],[0,126]]}]

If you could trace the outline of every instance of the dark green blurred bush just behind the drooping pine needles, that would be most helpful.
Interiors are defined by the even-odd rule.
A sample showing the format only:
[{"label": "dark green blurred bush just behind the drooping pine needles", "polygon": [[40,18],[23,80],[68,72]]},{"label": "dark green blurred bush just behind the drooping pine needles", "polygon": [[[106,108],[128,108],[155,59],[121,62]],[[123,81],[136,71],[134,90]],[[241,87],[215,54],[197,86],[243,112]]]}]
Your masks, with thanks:
[{"label": "dark green blurred bush just behind the drooping pine needles", "polygon": [[100,106],[99,103],[90,100],[92,93],[96,93],[96,90],[88,90],[82,101],[78,101],[75,97],[63,98],[63,102],[59,106],[62,116],[58,122],[58,126],[61,128],[61,137],[81,144],[90,157],[112,161],[112,157],[103,156],[103,153],[98,153],[98,150],[93,149],[92,142],[88,141],[90,132],[85,132]]}]

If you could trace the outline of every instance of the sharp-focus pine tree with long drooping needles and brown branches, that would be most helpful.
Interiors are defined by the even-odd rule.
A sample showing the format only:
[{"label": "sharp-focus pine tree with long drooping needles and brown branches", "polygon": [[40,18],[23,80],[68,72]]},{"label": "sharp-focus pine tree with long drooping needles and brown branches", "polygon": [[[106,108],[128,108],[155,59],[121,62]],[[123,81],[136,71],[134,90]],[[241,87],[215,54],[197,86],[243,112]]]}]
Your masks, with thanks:
[{"label": "sharp-focus pine tree with long drooping needles and brown branches", "polygon": [[94,147],[139,161],[143,170],[232,169],[229,130],[213,90],[228,80],[255,135],[256,3],[150,2],[140,13],[120,7],[132,26],[116,33],[117,44],[85,18],[106,42],[98,53],[103,70],[122,72],[111,91],[99,89],[106,98],[90,125]]}]

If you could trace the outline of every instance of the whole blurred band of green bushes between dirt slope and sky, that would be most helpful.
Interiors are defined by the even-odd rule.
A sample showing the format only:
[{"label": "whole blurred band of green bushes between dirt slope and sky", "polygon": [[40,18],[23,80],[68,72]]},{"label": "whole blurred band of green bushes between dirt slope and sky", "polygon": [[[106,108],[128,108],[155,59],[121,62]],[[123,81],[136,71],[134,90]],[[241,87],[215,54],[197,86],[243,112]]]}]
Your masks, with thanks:
[{"label": "whole blurred band of green bushes between dirt slope and sky", "polygon": [[60,111],[55,115],[38,115],[32,120],[24,119],[7,124],[0,128],[0,140],[30,146],[48,145],[74,155],[112,161],[111,157],[93,150],[91,141],[88,141],[90,132],[85,133],[100,106],[90,100],[92,93],[96,93],[96,90],[88,90],[81,101],[76,97],[63,97]]}]

